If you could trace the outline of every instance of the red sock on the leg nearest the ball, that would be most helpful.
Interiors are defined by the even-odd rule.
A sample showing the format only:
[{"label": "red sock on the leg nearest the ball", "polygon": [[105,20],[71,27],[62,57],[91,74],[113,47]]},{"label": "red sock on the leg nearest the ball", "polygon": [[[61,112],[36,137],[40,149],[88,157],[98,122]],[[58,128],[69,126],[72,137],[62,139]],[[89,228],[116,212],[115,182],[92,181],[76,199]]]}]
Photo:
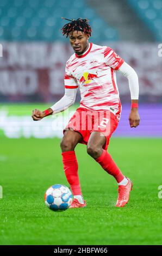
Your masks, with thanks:
[{"label": "red sock on the leg nearest the ball", "polygon": [[78,162],[74,151],[66,151],[61,153],[63,156],[63,166],[66,179],[70,184],[73,196],[82,195],[79,176],[78,176]]}]

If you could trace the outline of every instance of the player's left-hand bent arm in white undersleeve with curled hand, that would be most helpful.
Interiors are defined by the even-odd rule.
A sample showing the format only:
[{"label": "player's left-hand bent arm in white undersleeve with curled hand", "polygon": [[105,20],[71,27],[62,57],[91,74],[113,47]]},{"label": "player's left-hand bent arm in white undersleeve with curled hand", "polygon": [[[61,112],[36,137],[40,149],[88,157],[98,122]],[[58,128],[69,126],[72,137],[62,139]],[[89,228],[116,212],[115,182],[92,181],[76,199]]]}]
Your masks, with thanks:
[{"label": "player's left-hand bent arm in white undersleeve with curled hand", "polygon": [[56,114],[59,112],[64,111],[76,100],[76,94],[77,94],[77,88],[68,89],[65,88],[65,95],[56,102],[53,106],[49,107],[45,111],[40,111],[39,109],[34,109],[32,118],[34,121],[39,121],[44,117],[47,117],[48,115]]}]

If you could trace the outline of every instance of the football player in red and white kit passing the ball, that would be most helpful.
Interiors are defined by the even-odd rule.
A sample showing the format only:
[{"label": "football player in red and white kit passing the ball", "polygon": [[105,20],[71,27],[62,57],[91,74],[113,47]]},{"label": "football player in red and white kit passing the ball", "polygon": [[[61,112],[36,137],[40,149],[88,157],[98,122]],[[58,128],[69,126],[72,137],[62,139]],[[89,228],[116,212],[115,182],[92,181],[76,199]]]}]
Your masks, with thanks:
[{"label": "football player in red and white kit passing the ball", "polygon": [[[66,19],[67,20],[67,19]],[[78,143],[87,145],[87,153],[113,175],[119,186],[117,207],[128,203],[133,183],[123,175],[107,152],[109,140],[121,114],[121,102],[116,83],[116,71],[128,78],[132,106],[130,127],[139,125],[139,83],[134,69],[119,57],[112,48],[89,42],[91,27],[86,19],[68,20],[63,35],[70,39],[74,54],[68,59],[65,70],[65,95],[45,111],[35,109],[33,120],[59,113],[73,105],[77,88],[80,88],[80,106],[64,129],[61,140],[63,166],[73,193],[71,208],[86,206],[80,188],[78,162],[74,148]]]}]

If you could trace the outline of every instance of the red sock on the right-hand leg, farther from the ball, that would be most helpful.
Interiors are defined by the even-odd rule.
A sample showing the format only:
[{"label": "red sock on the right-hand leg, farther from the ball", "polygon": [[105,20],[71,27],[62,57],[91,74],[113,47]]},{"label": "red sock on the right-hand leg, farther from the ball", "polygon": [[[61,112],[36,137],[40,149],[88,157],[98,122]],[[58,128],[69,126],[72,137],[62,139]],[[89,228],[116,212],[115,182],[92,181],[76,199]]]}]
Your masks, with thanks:
[{"label": "red sock on the right-hand leg, farther from the ball", "polygon": [[121,170],[117,167],[116,163],[106,150],[103,149],[101,156],[96,159],[96,162],[99,163],[107,173],[113,175],[117,183],[120,183],[124,179]]}]

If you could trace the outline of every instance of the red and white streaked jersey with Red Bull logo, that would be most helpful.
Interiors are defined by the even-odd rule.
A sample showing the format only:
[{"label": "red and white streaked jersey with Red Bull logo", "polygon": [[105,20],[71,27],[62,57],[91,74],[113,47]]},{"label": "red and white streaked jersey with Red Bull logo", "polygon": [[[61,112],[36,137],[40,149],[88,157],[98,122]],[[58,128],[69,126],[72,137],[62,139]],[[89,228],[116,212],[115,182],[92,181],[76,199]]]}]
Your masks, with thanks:
[{"label": "red and white streaked jersey with Red Bull logo", "polygon": [[90,43],[82,56],[74,53],[66,63],[65,88],[80,88],[80,107],[110,110],[120,119],[121,102],[116,72],[123,64],[112,48]]}]

